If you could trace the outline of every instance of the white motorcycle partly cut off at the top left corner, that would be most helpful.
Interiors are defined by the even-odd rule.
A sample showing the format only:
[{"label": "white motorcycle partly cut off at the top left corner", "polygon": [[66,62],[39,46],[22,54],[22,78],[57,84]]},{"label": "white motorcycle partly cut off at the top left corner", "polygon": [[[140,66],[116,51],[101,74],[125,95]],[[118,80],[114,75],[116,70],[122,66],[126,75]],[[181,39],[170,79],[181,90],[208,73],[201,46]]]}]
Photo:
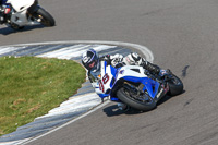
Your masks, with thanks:
[{"label": "white motorcycle partly cut off at the top left corner", "polygon": [[4,24],[13,29],[22,29],[24,26],[43,24],[55,26],[55,19],[38,4],[38,0],[8,0],[7,12],[0,10],[0,16],[4,16]]}]

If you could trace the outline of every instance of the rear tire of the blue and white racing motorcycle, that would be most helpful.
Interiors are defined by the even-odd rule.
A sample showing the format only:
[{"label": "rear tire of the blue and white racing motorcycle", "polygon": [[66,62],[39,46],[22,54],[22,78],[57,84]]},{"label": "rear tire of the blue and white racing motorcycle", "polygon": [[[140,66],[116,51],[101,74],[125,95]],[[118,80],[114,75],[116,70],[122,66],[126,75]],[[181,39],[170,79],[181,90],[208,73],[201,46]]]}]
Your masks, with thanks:
[{"label": "rear tire of the blue and white racing motorcycle", "polygon": [[169,85],[168,94],[170,96],[175,96],[175,95],[182,94],[183,93],[182,81],[174,74],[171,74],[171,75],[172,75],[172,78],[168,82],[168,85]]}]

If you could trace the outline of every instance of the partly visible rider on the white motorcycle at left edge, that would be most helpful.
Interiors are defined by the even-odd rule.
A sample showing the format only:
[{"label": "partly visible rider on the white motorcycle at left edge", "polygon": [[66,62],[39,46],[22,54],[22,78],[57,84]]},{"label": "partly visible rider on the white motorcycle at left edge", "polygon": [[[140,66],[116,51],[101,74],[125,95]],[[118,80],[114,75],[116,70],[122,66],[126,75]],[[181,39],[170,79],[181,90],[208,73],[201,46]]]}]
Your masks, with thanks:
[{"label": "partly visible rider on the white motorcycle at left edge", "polygon": [[5,17],[11,11],[10,4],[7,3],[8,0],[0,0],[0,24],[5,22]]}]

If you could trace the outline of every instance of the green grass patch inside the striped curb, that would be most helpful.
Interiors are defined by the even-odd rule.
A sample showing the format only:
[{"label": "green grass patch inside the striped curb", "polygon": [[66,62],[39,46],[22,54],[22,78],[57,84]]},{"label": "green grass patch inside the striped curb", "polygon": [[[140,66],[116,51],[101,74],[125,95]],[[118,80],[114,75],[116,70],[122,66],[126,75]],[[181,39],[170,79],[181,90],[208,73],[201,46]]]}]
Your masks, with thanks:
[{"label": "green grass patch inside the striped curb", "polygon": [[0,58],[0,135],[34,121],[74,95],[85,70],[72,60]]}]

